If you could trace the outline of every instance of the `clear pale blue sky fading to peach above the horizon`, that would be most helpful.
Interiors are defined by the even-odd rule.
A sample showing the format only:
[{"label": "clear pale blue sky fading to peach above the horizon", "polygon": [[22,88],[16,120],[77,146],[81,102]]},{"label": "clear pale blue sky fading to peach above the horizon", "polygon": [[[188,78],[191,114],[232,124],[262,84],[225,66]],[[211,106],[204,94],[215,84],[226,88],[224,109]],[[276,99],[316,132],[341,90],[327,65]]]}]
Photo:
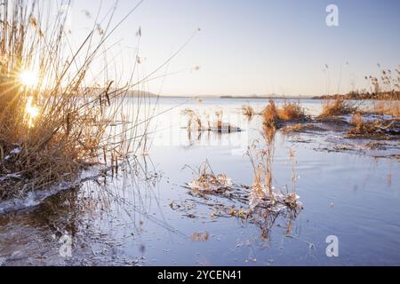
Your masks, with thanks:
[{"label": "clear pale blue sky fading to peach above the horizon", "polygon": [[[113,23],[139,2],[118,1]],[[92,28],[96,12],[104,15],[115,2],[100,3],[73,2],[70,26],[76,42]],[[339,27],[326,24],[329,4],[339,8]],[[160,78],[143,88],[177,96],[362,90],[370,88],[365,75],[380,74],[378,63],[399,68],[398,12],[400,1],[394,0],[145,0],[108,40],[113,46],[108,60],[116,58],[113,70],[127,76],[138,53],[140,78],[163,66],[196,33],[153,75]]]}]

